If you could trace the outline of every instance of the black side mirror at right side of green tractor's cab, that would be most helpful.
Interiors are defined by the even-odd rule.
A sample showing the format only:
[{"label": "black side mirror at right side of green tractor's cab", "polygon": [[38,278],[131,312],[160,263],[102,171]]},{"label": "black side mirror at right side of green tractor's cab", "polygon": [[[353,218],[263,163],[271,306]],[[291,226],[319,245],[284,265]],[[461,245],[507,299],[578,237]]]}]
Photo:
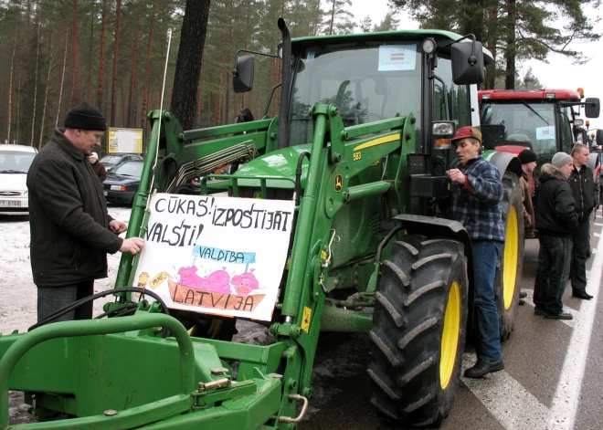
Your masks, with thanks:
[{"label": "black side mirror at right side of green tractor's cab", "polygon": [[480,42],[455,42],[450,46],[452,81],[457,85],[481,84],[485,80]]}]

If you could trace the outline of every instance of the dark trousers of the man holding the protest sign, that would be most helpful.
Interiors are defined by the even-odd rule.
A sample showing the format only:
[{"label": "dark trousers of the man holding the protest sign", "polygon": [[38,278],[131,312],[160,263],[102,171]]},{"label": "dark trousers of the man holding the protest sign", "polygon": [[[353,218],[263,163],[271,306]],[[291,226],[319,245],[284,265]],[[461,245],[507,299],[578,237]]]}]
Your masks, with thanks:
[{"label": "dark trousers of the man holding the protest sign", "polygon": [[[37,320],[44,320],[48,315],[56,312],[58,309],[65,308],[79,299],[90,297],[92,294],[94,294],[93,280],[79,282],[78,284],[64,287],[38,287]],[[81,305],[79,308],[71,310],[65,315],[50,322],[91,319],[92,302],[90,301],[90,303]]]}]

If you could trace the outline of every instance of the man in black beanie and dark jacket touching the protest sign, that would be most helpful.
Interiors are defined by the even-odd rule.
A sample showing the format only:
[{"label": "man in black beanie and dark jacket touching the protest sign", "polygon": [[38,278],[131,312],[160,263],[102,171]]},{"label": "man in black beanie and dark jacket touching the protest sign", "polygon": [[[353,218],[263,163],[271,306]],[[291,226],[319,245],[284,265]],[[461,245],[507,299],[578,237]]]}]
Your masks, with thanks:
[{"label": "man in black beanie and dark jacket touching the protest sign", "polygon": [[[80,103],[27,173],[38,321],[92,295],[94,279],[107,278],[107,253],[136,254],[143,247],[141,238],[118,236],[126,225],[107,213],[102,184],[87,157],[106,130],[100,110]],[[90,302],[51,322],[91,318]]]}]

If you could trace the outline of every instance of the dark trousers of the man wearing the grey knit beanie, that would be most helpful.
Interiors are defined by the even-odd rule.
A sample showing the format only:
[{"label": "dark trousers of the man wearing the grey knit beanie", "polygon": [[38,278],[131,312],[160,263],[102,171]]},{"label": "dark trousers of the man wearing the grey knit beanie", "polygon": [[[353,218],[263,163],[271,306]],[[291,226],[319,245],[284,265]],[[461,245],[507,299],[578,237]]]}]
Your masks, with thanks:
[{"label": "dark trousers of the man wearing the grey knit beanie", "polygon": [[572,239],[539,236],[538,269],[534,282],[535,310],[558,315],[563,311],[563,293],[569,275]]}]

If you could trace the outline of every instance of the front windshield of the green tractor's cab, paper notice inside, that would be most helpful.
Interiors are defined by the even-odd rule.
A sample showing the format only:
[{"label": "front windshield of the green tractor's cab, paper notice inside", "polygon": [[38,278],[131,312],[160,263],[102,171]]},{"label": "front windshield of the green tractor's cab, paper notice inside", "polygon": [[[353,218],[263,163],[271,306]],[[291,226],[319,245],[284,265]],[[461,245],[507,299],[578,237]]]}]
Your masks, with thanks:
[{"label": "front windshield of the green tractor's cab, paper notice inside", "polygon": [[298,62],[292,100],[291,145],[312,142],[308,109],[315,103],[337,106],[346,127],[396,113],[420,118],[418,44],[309,47]]}]

